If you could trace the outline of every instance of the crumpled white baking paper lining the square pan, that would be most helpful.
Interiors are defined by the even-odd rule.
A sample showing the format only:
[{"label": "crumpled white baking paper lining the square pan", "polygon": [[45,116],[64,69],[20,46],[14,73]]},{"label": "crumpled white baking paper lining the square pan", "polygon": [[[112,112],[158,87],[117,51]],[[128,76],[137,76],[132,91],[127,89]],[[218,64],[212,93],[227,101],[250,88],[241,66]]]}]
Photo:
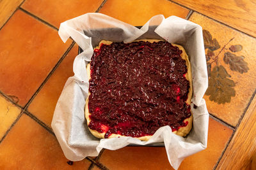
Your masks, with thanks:
[{"label": "crumpled white baking paper lining the square pan", "polygon": [[[106,29],[108,31],[102,33]],[[107,15],[86,13],[61,23],[59,35],[63,42],[71,37],[84,51],[74,60],[74,76],[68,78],[63,88],[51,124],[67,159],[77,161],[87,156],[97,156],[102,148],[118,150],[129,144],[147,145],[164,141],[168,160],[174,169],[178,169],[185,157],[206,148],[209,113],[202,97],[208,79],[200,25],[175,16],[164,18],[163,15],[156,15],[138,29]],[[194,109],[191,104],[193,129],[186,138],[173,134],[172,129],[165,126],[158,129],[147,142],[131,137],[97,139],[88,131],[84,118],[89,85],[86,64],[92,57],[93,46],[101,39],[129,43],[145,38],[166,39],[170,43],[184,46],[188,53],[193,76],[192,102],[198,106]]]}]

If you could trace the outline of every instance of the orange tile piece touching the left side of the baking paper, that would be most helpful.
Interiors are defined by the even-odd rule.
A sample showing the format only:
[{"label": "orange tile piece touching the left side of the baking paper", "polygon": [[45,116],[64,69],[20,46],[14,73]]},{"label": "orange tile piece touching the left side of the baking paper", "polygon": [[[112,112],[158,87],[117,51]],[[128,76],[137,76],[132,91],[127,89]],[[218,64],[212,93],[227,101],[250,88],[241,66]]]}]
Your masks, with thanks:
[{"label": "orange tile piece touching the left side of the baking paper", "polygon": [[29,112],[49,127],[51,127],[52,115],[65,82],[68,77],[74,75],[73,61],[77,55],[77,51],[78,46],[73,46],[28,107]]}]

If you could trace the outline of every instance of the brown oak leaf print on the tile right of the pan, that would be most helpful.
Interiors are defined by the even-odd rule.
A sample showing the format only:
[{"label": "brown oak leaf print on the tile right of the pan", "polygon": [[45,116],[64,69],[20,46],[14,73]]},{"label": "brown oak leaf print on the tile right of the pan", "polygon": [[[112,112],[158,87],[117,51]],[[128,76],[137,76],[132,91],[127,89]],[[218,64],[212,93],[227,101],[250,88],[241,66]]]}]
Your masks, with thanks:
[{"label": "brown oak leaf print on the tile right of the pan", "polygon": [[[244,61],[244,56],[237,56],[232,52],[240,52],[243,50],[241,45],[231,45],[228,49],[225,47],[234,39],[231,38],[224,46],[220,46],[216,38],[212,39],[209,31],[203,30],[204,47],[207,52],[205,53],[207,61],[207,72],[209,76],[209,87],[205,95],[209,96],[210,101],[218,104],[230,103],[232,97],[236,96],[234,87],[236,83],[231,80],[230,74],[224,66],[219,62],[219,57],[223,56],[225,64],[228,64],[231,71],[237,71],[241,74],[249,70],[248,64]],[[220,51],[216,52],[219,48]],[[230,50],[226,52],[225,50]],[[224,52],[224,55],[221,53]],[[217,53],[217,54],[216,54]]]}]

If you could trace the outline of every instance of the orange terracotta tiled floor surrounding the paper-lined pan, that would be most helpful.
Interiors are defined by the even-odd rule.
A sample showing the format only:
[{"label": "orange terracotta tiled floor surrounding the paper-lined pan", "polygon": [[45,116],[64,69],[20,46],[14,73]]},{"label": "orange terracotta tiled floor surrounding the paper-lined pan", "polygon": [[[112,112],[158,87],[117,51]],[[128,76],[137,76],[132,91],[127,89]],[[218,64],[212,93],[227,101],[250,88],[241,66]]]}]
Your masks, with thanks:
[{"label": "orange terracotta tiled floor surrounding the paper-lined pan", "polygon": [[[143,25],[157,14],[202,25],[209,69],[205,100],[212,115],[208,146],[186,158],[179,169],[218,169],[226,164],[223,155],[228,155],[225,150],[234,138],[239,140],[240,122],[246,126],[244,118],[255,112],[253,5],[252,1],[0,1],[0,169],[172,169],[163,147],[143,146],[104,150],[99,157],[70,166],[52,134],[55,104],[73,75],[78,49],[71,39],[62,43],[58,27],[69,18],[96,11],[132,25]],[[217,11],[212,12],[211,6]]]}]

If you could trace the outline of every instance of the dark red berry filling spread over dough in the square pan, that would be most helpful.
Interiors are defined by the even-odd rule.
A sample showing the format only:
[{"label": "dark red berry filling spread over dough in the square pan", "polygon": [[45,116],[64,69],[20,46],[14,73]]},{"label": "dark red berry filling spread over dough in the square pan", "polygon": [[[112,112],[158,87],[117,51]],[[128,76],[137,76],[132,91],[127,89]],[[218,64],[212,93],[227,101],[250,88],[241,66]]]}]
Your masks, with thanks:
[{"label": "dark red berry filling spread over dough in the square pan", "polygon": [[90,129],[141,137],[170,125],[177,131],[191,116],[186,104],[186,61],[166,41],[112,43],[95,50],[91,62]]}]

